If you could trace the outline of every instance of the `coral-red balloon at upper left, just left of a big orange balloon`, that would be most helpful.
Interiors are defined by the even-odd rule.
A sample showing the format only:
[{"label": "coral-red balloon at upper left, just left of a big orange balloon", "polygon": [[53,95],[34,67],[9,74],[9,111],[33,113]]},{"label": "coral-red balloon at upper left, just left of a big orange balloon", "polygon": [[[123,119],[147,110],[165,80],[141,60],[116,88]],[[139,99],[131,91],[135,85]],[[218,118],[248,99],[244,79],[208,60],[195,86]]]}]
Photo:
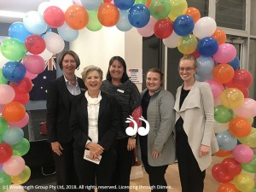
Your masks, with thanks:
[{"label": "coral-red balloon at upper left, just left of a big orange balloon", "polygon": [[65,21],[64,12],[57,6],[49,6],[44,10],[44,21],[51,27],[60,27]]}]

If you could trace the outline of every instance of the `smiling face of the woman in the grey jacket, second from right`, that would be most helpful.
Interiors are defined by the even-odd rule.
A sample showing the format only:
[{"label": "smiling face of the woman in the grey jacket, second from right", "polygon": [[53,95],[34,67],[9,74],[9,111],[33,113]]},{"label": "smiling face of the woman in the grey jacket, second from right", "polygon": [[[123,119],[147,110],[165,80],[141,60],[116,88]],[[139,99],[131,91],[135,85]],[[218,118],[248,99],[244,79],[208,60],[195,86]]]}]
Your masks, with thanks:
[{"label": "smiling face of the woman in the grey jacket, second from right", "polygon": [[150,92],[158,90],[161,86],[160,73],[148,72],[146,78],[146,86]]}]

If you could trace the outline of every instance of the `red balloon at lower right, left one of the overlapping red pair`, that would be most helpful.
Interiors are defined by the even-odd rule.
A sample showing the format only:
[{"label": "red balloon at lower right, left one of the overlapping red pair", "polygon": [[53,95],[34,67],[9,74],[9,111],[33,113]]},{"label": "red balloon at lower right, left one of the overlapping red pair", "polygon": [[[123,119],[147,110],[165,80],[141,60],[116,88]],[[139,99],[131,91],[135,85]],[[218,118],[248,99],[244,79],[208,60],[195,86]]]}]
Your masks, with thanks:
[{"label": "red balloon at lower right, left one of the overlapping red pair", "polygon": [[230,177],[229,173],[224,169],[224,166],[220,163],[212,166],[212,177],[214,177],[220,183],[227,183],[233,179],[233,177]]}]

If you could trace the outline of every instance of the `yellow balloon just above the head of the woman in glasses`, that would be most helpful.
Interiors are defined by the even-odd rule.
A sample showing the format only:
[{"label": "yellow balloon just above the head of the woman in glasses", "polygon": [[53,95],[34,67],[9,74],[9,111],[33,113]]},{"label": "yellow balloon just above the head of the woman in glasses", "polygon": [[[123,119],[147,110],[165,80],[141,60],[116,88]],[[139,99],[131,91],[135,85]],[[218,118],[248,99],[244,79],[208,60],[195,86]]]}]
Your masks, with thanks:
[{"label": "yellow balloon just above the head of the woman in glasses", "polygon": [[189,55],[197,48],[197,38],[195,35],[189,34],[178,40],[177,49],[184,55]]}]

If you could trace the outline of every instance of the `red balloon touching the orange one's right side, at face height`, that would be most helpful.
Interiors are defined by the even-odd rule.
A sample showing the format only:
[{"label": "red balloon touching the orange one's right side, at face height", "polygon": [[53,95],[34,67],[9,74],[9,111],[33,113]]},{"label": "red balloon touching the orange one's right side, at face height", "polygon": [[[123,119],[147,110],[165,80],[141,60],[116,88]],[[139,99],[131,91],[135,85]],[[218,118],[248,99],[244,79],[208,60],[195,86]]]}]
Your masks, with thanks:
[{"label": "red balloon touching the orange one's right side, at face height", "polygon": [[232,79],[233,84],[241,84],[249,87],[253,83],[253,75],[245,69],[238,69]]}]

